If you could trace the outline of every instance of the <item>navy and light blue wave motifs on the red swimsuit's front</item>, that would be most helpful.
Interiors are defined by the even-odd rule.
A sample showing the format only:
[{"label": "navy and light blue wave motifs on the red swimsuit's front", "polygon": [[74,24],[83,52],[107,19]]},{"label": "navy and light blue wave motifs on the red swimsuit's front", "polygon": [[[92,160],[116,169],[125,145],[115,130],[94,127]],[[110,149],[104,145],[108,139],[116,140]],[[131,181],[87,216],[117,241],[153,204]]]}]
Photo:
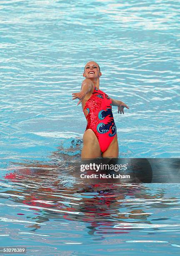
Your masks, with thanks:
[{"label": "navy and light blue wave motifs on the red swimsuit's front", "polygon": [[101,110],[98,114],[98,118],[100,120],[103,120],[107,116],[109,116],[109,118],[111,118],[112,120],[110,120],[107,124],[99,123],[97,125],[97,131],[98,133],[107,133],[108,131],[110,131],[110,128],[111,128],[112,132],[109,133],[109,136],[112,137],[116,134],[116,131],[117,131],[116,125],[114,123],[113,115],[112,115],[112,109],[107,108],[107,110]]}]

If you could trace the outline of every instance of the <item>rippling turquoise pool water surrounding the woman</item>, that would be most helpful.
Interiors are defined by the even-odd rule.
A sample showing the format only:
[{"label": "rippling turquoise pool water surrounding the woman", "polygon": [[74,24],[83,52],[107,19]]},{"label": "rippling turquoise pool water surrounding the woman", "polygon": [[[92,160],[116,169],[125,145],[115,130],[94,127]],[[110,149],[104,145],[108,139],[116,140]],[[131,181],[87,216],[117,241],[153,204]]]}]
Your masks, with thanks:
[{"label": "rippling turquoise pool water surrounding the woman", "polygon": [[171,0],[0,1],[5,246],[179,254],[178,184],[95,187],[71,171],[86,127],[71,94],[89,60],[100,65],[100,89],[130,107],[125,115],[113,107],[119,157],[179,157],[179,9]]}]

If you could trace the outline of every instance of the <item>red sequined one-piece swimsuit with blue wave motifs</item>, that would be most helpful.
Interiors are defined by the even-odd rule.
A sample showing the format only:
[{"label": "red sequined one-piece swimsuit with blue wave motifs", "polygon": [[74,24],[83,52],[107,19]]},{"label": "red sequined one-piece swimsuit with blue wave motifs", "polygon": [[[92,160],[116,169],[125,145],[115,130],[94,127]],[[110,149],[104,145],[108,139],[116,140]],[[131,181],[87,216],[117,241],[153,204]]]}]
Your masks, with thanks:
[{"label": "red sequined one-piece swimsuit with blue wave motifs", "polygon": [[100,150],[103,153],[116,134],[116,126],[112,115],[112,101],[105,92],[95,87],[91,97],[85,103],[85,109],[88,111],[86,130],[91,129],[95,133],[100,144]]}]

